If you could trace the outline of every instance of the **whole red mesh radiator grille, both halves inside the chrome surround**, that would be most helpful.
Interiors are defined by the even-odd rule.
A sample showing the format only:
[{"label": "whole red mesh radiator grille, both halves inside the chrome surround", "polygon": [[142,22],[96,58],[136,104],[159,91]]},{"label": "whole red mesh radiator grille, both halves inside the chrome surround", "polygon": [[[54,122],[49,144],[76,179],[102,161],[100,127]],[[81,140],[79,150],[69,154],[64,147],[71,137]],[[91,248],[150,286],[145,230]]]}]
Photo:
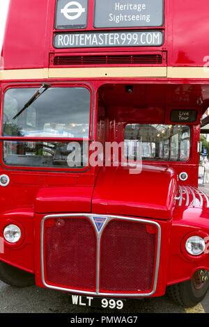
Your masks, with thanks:
[{"label": "whole red mesh radiator grille, both halves inside the chrome surround", "polygon": [[45,219],[42,264],[46,285],[98,295],[150,294],[157,260],[156,225],[128,218],[103,221],[100,230],[93,217]]}]

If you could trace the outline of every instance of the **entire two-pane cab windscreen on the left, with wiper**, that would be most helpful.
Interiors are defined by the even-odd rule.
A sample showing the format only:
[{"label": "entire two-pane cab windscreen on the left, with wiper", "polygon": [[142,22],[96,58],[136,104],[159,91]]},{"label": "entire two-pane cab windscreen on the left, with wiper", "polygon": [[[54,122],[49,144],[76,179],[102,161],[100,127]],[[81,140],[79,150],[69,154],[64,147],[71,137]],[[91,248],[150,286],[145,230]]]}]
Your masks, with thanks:
[{"label": "entire two-pane cab windscreen on the left, with wiper", "polygon": [[[83,168],[88,166],[91,93],[87,88],[11,88],[3,101],[3,161],[8,166]],[[32,102],[31,102],[31,99]],[[28,106],[29,104],[29,106]],[[58,138],[18,141],[18,138]],[[69,138],[68,142],[61,138]]]}]

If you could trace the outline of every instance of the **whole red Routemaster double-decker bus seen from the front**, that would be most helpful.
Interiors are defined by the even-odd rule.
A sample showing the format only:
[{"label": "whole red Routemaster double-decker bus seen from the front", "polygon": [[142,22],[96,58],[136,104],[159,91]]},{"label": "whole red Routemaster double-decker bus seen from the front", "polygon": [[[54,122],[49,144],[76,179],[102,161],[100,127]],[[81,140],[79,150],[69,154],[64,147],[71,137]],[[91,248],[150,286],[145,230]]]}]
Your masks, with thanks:
[{"label": "whole red Routemaster double-decker bus seen from the front", "polygon": [[208,6],[10,0],[1,280],[103,308],[166,290],[186,306],[205,296],[209,199],[198,168]]}]

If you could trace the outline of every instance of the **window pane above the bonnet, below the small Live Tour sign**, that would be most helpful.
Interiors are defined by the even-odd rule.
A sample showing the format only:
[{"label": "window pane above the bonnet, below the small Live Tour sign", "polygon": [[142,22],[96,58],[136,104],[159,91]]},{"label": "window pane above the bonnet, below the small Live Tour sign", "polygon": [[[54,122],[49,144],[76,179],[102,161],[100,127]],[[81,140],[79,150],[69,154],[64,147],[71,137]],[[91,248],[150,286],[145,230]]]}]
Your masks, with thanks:
[{"label": "window pane above the bonnet, below the small Live Tour sign", "polygon": [[187,161],[190,128],[186,125],[128,124],[125,126],[125,157],[144,160]]}]

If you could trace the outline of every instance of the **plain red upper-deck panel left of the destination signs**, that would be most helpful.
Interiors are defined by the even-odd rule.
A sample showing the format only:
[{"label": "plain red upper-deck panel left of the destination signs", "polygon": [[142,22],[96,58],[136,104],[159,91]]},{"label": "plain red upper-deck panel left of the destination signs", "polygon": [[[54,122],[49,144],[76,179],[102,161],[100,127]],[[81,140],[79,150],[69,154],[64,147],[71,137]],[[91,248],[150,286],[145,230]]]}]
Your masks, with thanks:
[{"label": "plain red upper-deck panel left of the destination signs", "polygon": [[6,69],[44,67],[47,5],[48,0],[10,1],[3,42]]}]

